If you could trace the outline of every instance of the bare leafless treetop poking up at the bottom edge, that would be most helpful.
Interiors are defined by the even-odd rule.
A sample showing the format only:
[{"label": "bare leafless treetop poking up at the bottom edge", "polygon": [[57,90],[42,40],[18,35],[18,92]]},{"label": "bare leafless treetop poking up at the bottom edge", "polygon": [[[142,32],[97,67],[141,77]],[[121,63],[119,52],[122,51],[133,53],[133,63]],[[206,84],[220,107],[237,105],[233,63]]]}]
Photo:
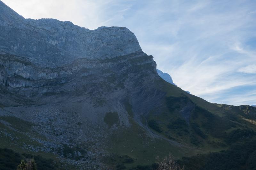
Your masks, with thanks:
[{"label": "bare leafless treetop poking up at the bottom edge", "polygon": [[159,157],[156,157],[158,167],[157,170],[184,170],[184,165],[182,168],[176,163],[172,153],[169,153],[169,157],[164,157],[160,160]]}]

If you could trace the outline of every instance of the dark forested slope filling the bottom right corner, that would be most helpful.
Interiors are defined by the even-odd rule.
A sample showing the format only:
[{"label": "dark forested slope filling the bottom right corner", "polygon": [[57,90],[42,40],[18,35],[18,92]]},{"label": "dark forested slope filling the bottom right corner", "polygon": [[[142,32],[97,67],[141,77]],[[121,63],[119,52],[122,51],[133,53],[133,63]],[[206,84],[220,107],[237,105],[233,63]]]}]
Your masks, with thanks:
[{"label": "dark forested slope filling the bottom right corner", "polygon": [[[237,134],[238,135],[238,134]],[[233,144],[228,150],[183,157],[180,165],[187,170],[255,170],[256,141]]]}]

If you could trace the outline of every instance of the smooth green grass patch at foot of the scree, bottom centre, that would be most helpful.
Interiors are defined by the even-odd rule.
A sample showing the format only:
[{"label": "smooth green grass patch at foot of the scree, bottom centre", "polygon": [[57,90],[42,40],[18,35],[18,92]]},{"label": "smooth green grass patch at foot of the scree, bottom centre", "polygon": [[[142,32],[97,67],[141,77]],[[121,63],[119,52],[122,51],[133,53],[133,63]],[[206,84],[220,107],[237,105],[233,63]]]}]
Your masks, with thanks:
[{"label": "smooth green grass patch at foot of the scree, bottom centre", "polygon": [[[127,168],[137,165],[150,165],[156,161],[156,156],[163,157],[172,152],[177,158],[184,155],[194,155],[202,153],[200,149],[191,148],[180,143],[172,143],[171,141],[152,138],[148,132],[138,123],[130,119],[131,128],[118,129],[113,134],[110,141],[108,151],[112,155],[105,159],[108,168],[115,168],[117,164],[124,164]],[[133,159],[132,163],[125,163],[120,156],[128,155]]]}]

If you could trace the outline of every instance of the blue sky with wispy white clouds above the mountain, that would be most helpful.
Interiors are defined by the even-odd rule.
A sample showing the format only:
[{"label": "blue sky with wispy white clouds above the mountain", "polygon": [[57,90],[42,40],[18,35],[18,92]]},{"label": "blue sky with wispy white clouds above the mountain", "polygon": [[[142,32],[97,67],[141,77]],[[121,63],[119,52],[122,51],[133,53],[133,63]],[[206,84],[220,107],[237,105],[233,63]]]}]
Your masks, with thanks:
[{"label": "blue sky with wispy white clouds above the mountain", "polygon": [[124,26],[157,69],[209,102],[256,104],[255,0],[2,0],[24,18]]}]

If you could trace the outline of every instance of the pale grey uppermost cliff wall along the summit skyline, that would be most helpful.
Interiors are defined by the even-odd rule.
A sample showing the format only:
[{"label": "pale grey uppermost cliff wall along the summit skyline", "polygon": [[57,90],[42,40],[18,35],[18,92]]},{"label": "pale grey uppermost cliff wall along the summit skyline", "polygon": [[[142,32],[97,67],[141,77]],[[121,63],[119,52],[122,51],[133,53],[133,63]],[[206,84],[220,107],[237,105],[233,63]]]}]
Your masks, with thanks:
[{"label": "pale grey uppermost cliff wall along the summit skyline", "polygon": [[0,2],[0,52],[27,57],[33,64],[55,67],[78,58],[106,59],[142,52],[125,27],[81,28],[69,21],[25,19]]}]

